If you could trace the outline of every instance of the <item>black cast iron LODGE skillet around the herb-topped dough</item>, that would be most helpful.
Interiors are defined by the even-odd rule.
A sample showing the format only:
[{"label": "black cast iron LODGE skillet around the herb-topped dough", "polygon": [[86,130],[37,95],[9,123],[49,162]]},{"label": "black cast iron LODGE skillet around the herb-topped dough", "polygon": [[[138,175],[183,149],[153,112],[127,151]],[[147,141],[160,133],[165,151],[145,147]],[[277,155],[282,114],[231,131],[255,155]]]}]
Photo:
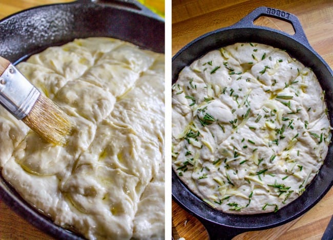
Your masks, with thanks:
[{"label": "black cast iron LODGE skillet around the herb-topped dough", "polygon": [[[276,17],[292,24],[295,35],[254,25],[260,16]],[[309,45],[298,18],[290,13],[260,7],[233,26],[218,29],[198,37],[182,48],[172,58],[172,81],[185,66],[205,53],[236,42],[259,42],[286,50],[305,66],[313,69],[326,92],[330,125],[333,126],[333,72],[327,63]],[[313,207],[333,185],[333,147],[330,143],[324,165],[304,193],[294,202],[276,213],[253,215],[227,214],[211,208],[193,194],[172,171],[173,199],[185,210],[195,215],[209,232],[211,239],[229,239],[242,232],[276,227],[296,219]]]}]

